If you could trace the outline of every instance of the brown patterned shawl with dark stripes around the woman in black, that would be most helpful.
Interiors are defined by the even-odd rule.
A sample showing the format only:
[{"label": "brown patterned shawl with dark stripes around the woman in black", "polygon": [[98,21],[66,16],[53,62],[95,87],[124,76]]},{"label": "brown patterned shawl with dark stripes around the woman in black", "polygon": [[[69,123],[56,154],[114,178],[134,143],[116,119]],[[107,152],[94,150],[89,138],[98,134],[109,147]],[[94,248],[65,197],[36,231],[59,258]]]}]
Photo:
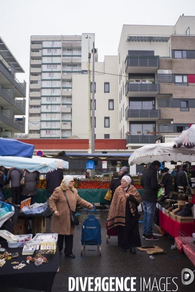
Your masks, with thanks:
[{"label": "brown patterned shawl with dark stripes around the woman in black", "polygon": [[[125,192],[124,188],[120,185],[113,196],[109,213],[108,213],[108,229],[115,226],[122,225],[125,226],[125,206],[126,200],[125,193],[133,195],[138,204],[141,203],[141,196],[137,189],[130,184],[129,189]],[[136,205],[132,201],[129,201],[130,210],[133,216],[135,216]]]}]

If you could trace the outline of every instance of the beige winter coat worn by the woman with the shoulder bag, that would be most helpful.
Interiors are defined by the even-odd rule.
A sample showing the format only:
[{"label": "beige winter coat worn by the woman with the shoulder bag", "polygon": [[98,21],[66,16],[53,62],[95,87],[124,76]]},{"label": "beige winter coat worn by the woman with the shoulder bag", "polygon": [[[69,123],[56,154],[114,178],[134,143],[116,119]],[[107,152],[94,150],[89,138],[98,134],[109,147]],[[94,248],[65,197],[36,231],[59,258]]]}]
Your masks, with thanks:
[{"label": "beige winter coat worn by the woman with the shoulder bag", "polygon": [[74,226],[71,225],[70,210],[64,196],[64,191],[66,191],[72,211],[75,211],[76,204],[88,208],[90,203],[80,198],[75,188],[68,189],[65,183],[61,183],[53,191],[49,199],[49,205],[52,212],[55,210],[59,212],[59,216],[53,216],[51,231],[57,234],[71,235],[74,234]]}]

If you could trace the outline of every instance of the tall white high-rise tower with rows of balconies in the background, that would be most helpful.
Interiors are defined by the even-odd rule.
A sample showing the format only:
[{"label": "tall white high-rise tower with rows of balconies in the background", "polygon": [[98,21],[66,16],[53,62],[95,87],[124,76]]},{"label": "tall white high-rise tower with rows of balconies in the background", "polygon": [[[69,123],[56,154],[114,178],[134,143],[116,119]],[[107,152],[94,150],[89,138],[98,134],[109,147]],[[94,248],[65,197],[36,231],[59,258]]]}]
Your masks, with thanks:
[{"label": "tall white high-rise tower with rows of balconies in the background", "polygon": [[82,87],[80,80],[88,74],[86,62],[93,41],[94,34],[31,37],[29,138],[67,138],[73,127],[83,123],[72,116],[74,110],[81,110],[79,99],[88,99],[88,94],[78,97],[73,89],[81,91],[78,83]]}]

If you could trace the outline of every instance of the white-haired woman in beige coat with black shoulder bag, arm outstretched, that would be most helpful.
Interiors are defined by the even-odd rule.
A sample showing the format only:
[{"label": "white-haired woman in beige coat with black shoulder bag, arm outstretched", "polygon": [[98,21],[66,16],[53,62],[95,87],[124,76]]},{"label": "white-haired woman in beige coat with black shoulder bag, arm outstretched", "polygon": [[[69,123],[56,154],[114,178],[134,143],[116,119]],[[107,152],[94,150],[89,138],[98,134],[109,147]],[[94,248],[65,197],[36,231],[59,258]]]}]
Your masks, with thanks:
[{"label": "white-haired woman in beige coat with black shoulder bag, arm outstretched", "polygon": [[71,225],[70,210],[64,195],[66,192],[72,211],[75,211],[76,204],[85,208],[93,208],[93,206],[79,197],[77,190],[73,187],[74,179],[71,175],[66,175],[59,187],[53,191],[49,199],[50,209],[53,212],[51,231],[58,234],[58,248],[61,254],[63,243],[65,242],[65,256],[74,258],[72,254],[74,226]]}]

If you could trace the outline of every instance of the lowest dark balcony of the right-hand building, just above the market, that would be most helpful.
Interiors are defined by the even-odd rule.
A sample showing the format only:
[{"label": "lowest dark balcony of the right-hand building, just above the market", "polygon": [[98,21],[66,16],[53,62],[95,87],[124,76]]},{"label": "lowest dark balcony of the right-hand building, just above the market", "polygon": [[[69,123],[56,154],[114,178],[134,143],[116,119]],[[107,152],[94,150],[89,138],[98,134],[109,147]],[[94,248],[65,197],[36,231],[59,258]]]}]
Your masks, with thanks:
[{"label": "lowest dark balcony of the right-hand building, just above the market", "polygon": [[160,137],[159,132],[151,132],[146,135],[131,135],[129,132],[126,134],[126,145],[127,144],[154,144],[155,139]]}]

